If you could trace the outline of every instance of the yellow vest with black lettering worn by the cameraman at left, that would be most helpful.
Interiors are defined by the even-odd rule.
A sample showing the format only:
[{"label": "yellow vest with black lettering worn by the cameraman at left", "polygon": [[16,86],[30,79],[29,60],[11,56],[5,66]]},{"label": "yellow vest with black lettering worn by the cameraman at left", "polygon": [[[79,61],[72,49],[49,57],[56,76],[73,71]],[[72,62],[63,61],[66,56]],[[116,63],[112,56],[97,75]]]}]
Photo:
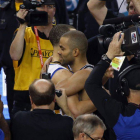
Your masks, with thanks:
[{"label": "yellow vest with black lettering worn by the cameraman at left", "polygon": [[[15,70],[14,90],[28,90],[30,84],[35,79],[39,79],[40,77],[40,58],[38,53],[36,36],[31,27],[26,28],[24,39],[25,51],[23,53],[22,61],[20,64],[18,64],[18,61],[13,62]],[[53,46],[50,40],[41,38],[39,38],[39,40],[43,61],[45,62],[47,58],[52,56]]]}]

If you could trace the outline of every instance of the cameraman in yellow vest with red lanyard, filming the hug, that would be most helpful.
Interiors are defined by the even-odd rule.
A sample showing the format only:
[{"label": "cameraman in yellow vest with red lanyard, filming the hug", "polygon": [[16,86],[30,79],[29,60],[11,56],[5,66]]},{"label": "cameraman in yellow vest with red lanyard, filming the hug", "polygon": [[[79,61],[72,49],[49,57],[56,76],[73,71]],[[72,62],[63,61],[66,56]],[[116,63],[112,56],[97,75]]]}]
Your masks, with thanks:
[{"label": "cameraman in yellow vest with red lanyard, filming the hug", "polygon": [[[49,1],[50,2],[50,1]],[[15,84],[14,107],[12,113],[19,110],[30,110],[29,85],[39,78],[41,67],[45,60],[52,55],[53,47],[49,41],[49,32],[53,28],[52,20],[55,14],[54,1],[47,0],[37,7],[37,11],[48,14],[47,25],[27,27],[25,17],[27,9],[20,9],[17,13],[20,27],[10,47],[10,55],[14,60]]]}]

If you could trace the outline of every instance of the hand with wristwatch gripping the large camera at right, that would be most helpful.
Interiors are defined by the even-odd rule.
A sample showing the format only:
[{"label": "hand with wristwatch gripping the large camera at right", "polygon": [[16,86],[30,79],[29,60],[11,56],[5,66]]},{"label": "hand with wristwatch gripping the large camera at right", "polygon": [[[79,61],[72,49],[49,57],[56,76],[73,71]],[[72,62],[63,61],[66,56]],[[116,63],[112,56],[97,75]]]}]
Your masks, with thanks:
[{"label": "hand with wristwatch gripping the large camera at right", "polygon": [[122,52],[121,50],[121,44],[123,42],[123,39],[124,39],[124,33],[121,32],[117,32],[113,36],[113,40],[109,44],[108,51],[106,53],[106,55],[110,60],[112,60],[116,56],[124,55],[124,52]]}]

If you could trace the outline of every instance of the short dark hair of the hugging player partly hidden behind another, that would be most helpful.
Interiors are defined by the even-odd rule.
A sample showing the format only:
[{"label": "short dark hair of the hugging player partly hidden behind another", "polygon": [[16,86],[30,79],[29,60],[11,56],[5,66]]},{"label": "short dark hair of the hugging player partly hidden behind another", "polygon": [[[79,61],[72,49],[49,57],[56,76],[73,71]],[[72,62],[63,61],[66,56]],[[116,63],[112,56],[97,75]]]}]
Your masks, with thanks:
[{"label": "short dark hair of the hugging player partly hidden behind another", "polygon": [[53,46],[58,45],[61,36],[70,31],[70,29],[75,29],[73,26],[71,25],[67,25],[67,24],[58,24],[56,26],[54,26],[49,34],[49,39],[52,43]]}]

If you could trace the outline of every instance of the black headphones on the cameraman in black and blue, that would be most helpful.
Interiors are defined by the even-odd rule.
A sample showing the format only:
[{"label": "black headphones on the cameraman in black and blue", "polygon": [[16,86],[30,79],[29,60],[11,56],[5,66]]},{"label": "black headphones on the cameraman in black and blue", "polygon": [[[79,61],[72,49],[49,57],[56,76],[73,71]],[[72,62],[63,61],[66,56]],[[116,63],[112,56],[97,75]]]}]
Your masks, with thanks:
[{"label": "black headphones on the cameraman in black and blue", "polygon": [[128,97],[130,94],[128,81],[125,78],[126,74],[134,69],[140,69],[140,65],[130,65],[126,69],[124,69],[118,76],[118,89],[117,92],[122,95]]}]

